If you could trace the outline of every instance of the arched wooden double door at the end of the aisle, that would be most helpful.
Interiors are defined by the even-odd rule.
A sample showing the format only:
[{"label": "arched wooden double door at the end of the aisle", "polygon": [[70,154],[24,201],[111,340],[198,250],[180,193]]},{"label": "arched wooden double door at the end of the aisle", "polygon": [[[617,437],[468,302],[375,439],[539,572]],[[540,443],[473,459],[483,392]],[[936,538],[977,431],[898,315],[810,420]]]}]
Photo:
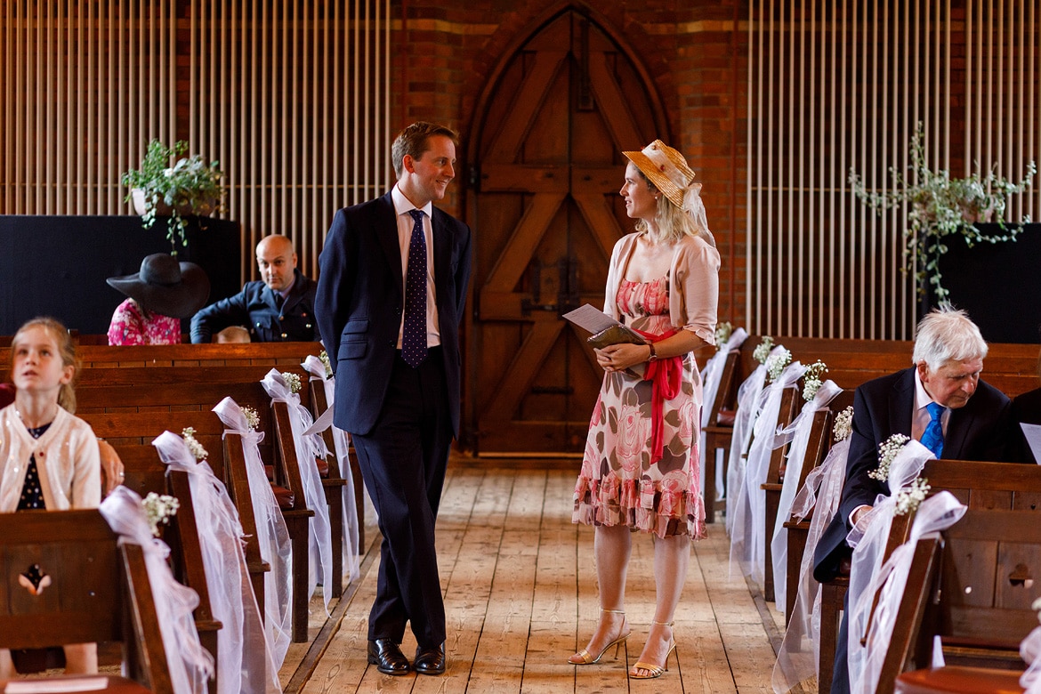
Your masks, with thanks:
[{"label": "arched wooden double door at the end of the aisle", "polygon": [[603,308],[611,249],[632,230],[621,151],[667,138],[645,70],[588,9],[529,35],[489,82],[468,148],[467,400],[482,454],[583,449],[603,371],[561,315]]}]

